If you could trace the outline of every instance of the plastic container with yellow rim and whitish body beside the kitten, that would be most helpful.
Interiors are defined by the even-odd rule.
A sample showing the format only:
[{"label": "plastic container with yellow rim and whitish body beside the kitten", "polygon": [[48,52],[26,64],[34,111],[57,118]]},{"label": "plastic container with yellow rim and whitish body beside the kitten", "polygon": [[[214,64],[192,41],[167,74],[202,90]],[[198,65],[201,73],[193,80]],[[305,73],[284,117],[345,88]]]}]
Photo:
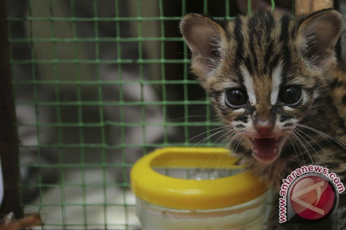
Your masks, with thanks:
[{"label": "plastic container with yellow rim and whitish body beside the kitten", "polygon": [[164,148],[131,170],[142,230],[262,229],[267,186],[222,148]]}]

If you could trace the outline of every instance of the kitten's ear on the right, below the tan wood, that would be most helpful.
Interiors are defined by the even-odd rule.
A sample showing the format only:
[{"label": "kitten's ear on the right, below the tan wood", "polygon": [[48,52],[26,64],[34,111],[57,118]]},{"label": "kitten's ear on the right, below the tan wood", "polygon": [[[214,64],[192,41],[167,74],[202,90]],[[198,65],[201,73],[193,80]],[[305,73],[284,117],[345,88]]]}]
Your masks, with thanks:
[{"label": "kitten's ear on the right, below the tan wood", "polygon": [[342,22],[339,12],[324,9],[307,16],[298,28],[298,35],[303,38],[303,55],[322,71],[335,63],[334,49]]}]

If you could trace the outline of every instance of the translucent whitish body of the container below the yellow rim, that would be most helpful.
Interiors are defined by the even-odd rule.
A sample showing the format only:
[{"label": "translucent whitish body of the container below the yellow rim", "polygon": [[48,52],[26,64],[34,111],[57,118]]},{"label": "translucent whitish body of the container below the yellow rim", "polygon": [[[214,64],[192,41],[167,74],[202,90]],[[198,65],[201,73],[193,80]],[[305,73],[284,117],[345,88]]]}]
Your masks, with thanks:
[{"label": "translucent whitish body of the container below the yellow rim", "polygon": [[237,206],[213,210],[178,210],[136,198],[142,230],[260,230],[266,194]]}]

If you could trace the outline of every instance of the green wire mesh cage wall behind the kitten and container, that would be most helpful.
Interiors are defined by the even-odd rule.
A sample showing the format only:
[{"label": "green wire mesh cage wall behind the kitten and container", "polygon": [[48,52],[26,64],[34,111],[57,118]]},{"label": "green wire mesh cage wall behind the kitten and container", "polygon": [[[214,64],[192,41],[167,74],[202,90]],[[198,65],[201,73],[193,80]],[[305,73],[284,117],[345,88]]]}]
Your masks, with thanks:
[{"label": "green wire mesh cage wall behind the kitten and container", "polygon": [[43,217],[36,229],[139,229],[128,172],[140,156],[227,147],[178,25],[187,12],[233,20],[236,1],[7,3],[21,204]]}]

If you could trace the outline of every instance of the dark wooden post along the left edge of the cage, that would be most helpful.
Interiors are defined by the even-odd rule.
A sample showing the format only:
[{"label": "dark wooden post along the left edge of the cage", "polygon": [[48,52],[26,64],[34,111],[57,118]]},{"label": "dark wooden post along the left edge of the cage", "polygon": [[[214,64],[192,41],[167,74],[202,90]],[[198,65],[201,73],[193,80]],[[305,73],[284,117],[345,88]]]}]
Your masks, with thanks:
[{"label": "dark wooden post along the left edge of the cage", "polygon": [[15,127],[16,115],[10,71],[10,52],[7,27],[7,1],[0,1],[0,157],[4,183],[4,197],[0,214],[23,217],[19,199],[19,150]]}]

